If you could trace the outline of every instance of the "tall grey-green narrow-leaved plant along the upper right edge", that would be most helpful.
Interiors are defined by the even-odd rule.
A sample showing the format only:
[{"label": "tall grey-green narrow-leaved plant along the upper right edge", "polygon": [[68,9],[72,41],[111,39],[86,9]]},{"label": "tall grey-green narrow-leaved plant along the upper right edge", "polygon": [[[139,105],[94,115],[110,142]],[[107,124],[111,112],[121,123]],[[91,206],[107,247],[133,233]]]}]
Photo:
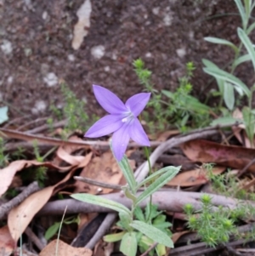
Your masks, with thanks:
[{"label": "tall grey-green narrow-leaved plant along the upper right edge", "polygon": [[[241,26],[242,28],[237,28],[237,34],[241,41],[239,45],[229,42],[228,40],[217,38],[217,37],[205,37],[205,40],[210,43],[218,43],[226,45],[234,50],[234,59],[227,65],[229,71],[224,71],[219,68],[218,65],[215,65],[210,60],[202,60],[205,67],[203,70],[215,77],[218,83],[218,95],[221,97],[220,105],[224,100],[224,104],[227,106],[229,111],[232,111],[236,105],[235,93],[239,94],[240,97],[246,96],[248,102],[247,106],[242,108],[242,122],[246,127],[246,134],[252,147],[254,147],[253,137],[254,137],[254,128],[255,128],[255,110],[252,109],[252,95],[255,89],[255,84],[247,87],[244,82],[238,77],[235,77],[235,69],[238,65],[246,61],[252,61],[252,65],[255,71],[255,49],[252,44],[249,35],[255,29],[255,22],[250,24],[252,9],[255,7],[255,1],[244,0],[243,3],[241,0],[235,0],[237,9],[239,10],[241,16]],[[249,25],[250,24],[250,25]],[[231,113],[224,111],[226,114],[225,117],[221,117],[218,120],[212,122],[212,125],[216,124],[225,124],[226,122],[240,122],[241,120],[231,117]]]}]

